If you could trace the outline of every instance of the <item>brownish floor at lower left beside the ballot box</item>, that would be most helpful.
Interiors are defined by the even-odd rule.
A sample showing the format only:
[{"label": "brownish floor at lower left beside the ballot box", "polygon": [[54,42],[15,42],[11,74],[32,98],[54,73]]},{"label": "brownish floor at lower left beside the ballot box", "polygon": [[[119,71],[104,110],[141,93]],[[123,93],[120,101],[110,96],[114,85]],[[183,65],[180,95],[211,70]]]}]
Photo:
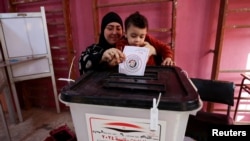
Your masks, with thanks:
[{"label": "brownish floor at lower left beside the ballot box", "polygon": [[[58,114],[54,109],[33,108],[23,111],[22,114],[24,121],[21,123],[10,123],[7,118],[12,141],[44,141],[50,136],[50,131],[63,125],[67,125],[71,131],[74,130],[69,110]],[[1,123],[0,141],[7,141],[2,126]]]}]

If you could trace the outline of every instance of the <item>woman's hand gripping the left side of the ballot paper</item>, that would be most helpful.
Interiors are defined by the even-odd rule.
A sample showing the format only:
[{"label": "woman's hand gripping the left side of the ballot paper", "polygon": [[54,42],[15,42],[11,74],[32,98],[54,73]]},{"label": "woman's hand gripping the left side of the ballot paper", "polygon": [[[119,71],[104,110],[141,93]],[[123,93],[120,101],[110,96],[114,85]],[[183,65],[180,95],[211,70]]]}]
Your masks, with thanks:
[{"label": "woman's hand gripping the left side of the ballot paper", "polygon": [[110,66],[116,66],[125,60],[125,55],[117,48],[107,49],[103,55],[101,62],[107,62]]}]

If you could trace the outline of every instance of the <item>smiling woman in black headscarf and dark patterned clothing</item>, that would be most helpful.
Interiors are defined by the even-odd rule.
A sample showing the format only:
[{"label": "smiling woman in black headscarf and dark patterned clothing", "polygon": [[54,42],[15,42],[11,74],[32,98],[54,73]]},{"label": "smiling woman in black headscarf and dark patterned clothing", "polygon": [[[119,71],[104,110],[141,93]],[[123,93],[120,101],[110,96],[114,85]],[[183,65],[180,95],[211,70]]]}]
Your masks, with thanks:
[{"label": "smiling woman in black headscarf and dark patterned clothing", "polygon": [[107,13],[101,23],[99,42],[82,52],[79,59],[80,75],[92,69],[104,69],[115,66],[124,60],[124,54],[115,48],[123,36],[121,17],[115,12]]}]

